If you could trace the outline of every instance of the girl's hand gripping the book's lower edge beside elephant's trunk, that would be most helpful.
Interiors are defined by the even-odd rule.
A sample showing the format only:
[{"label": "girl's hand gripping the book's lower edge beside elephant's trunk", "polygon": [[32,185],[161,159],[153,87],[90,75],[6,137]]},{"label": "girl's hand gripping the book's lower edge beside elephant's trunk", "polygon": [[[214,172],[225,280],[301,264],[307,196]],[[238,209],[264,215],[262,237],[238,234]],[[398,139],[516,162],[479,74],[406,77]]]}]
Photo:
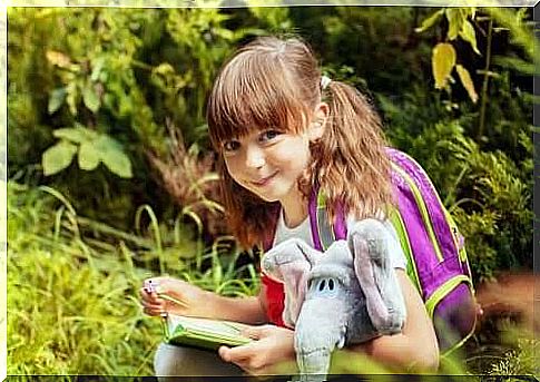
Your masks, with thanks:
[{"label": "girl's hand gripping the book's lower edge beside elephant's trunk", "polygon": [[296,373],[294,332],[275,325],[252,326],[242,333],[254,339],[236,347],[219,347],[219,356],[253,375]]}]

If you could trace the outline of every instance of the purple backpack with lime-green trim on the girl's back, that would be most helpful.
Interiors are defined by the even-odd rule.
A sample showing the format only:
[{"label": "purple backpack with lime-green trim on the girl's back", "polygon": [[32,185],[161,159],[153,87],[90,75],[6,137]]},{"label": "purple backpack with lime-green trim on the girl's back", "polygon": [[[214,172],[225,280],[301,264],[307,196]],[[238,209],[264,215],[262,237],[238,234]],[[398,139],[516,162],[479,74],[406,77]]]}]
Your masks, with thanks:
[{"label": "purple backpack with lime-green trim on the girl's back", "polygon": [[[387,149],[392,160],[392,184],[397,208],[391,213],[403,252],[406,273],[419,290],[433,320],[440,351],[448,354],[473,333],[478,305],[463,236],[444,208],[430,178],[410,156]],[[310,219],[315,247],[325,249],[346,237],[343,212],[335,224],[326,222],[324,196],[310,198]]]}]

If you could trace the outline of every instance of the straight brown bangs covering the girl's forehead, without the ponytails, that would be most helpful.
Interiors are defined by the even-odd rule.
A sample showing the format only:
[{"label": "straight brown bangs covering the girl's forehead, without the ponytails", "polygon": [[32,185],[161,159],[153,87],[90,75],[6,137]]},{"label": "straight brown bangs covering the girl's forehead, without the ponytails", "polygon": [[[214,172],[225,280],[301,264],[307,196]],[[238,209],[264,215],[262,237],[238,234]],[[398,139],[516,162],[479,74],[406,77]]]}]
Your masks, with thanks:
[{"label": "straight brown bangs covering the girl's forehead, without the ponytails", "polygon": [[301,133],[311,110],[301,101],[303,89],[289,77],[277,55],[245,51],[234,57],[208,99],[214,147],[218,150],[223,141],[257,130]]}]

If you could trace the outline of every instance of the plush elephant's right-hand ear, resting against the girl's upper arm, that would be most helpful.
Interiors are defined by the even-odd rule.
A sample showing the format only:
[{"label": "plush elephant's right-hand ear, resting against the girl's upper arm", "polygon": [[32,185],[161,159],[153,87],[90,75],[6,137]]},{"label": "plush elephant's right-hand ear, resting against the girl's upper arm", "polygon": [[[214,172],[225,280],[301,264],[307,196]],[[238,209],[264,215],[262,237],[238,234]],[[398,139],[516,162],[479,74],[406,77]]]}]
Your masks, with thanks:
[{"label": "plush elephant's right-hand ear, resting against the girl's upper arm", "polygon": [[[389,291],[385,285],[390,267],[384,225],[375,219],[364,219],[355,223],[348,232],[348,247],[354,256],[354,272],[360,287],[365,295],[367,314],[376,331],[384,331],[391,325],[389,298],[382,291]],[[395,298],[395,297],[394,297]]]}]

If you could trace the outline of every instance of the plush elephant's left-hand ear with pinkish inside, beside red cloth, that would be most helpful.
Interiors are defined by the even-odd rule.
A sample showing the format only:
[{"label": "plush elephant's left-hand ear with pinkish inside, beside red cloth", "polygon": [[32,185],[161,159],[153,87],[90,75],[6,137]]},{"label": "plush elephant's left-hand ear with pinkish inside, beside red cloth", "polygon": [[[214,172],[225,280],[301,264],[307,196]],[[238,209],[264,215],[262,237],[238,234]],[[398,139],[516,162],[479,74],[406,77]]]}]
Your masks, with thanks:
[{"label": "plush elephant's left-hand ear with pinkish inside, beside red cloth", "polygon": [[289,327],[294,327],[304,303],[307,274],[321,255],[321,252],[310,247],[304,241],[291,238],[263,256],[263,272],[284,283],[283,321]]}]

